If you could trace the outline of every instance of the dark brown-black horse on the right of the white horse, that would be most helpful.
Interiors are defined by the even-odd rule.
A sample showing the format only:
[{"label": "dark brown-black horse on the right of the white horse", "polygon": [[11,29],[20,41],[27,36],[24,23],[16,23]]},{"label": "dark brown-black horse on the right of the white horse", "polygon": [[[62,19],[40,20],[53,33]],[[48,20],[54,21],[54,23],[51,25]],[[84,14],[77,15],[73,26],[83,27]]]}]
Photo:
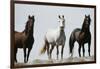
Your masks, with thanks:
[{"label": "dark brown-black horse on the right of the white horse", "polygon": [[78,48],[79,57],[81,57],[80,53],[81,47],[83,50],[83,57],[85,56],[85,48],[84,48],[85,43],[88,43],[88,54],[90,56],[90,46],[91,46],[90,23],[91,23],[90,15],[85,15],[82,28],[76,28],[72,31],[69,39],[69,48],[71,57],[73,55],[73,47],[75,42],[79,44]]}]

